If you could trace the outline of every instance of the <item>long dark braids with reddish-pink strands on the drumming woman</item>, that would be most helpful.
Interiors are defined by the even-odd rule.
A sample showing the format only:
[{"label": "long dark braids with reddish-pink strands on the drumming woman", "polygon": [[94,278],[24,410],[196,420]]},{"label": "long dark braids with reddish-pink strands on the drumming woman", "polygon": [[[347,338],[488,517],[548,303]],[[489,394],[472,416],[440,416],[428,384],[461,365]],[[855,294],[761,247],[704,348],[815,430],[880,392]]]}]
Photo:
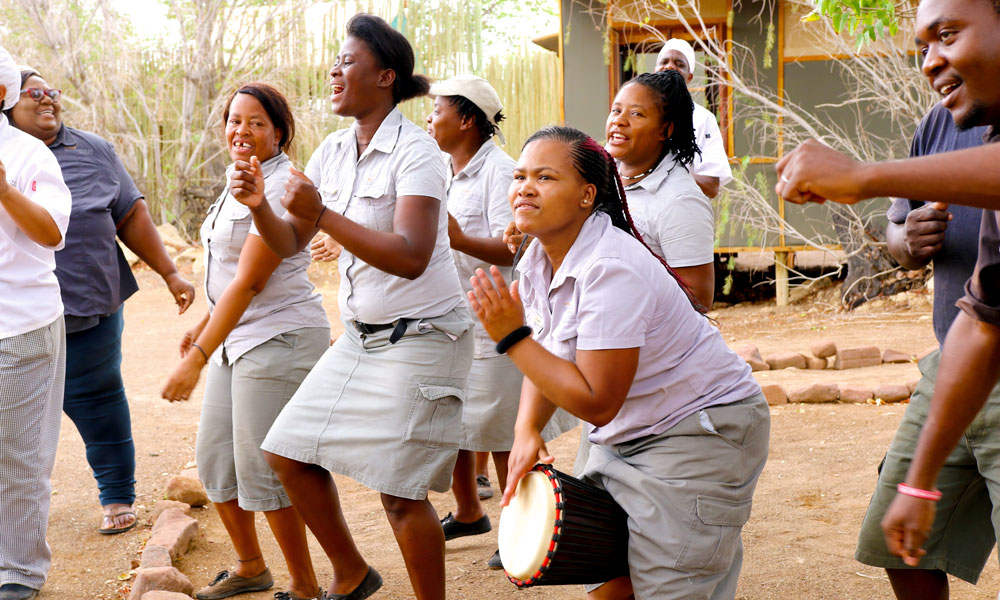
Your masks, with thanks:
[{"label": "long dark braids with reddish-pink strands on the drumming woman", "polygon": [[667,264],[667,261],[657,256],[646,245],[646,242],[643,241],[642,234],[639,233],[639,230],[635,228],[635,224],[632,222],[632,215],[629,213],[628,202],[625,199],[625,186],[622,185],[622,180],[618,176],[618,167],[607,150],[594,141],[594,138],[573,127],[559,125],[545,127],[533,133],[524,142],[524,145],[527,146],[531,142],[538,140],[555,140],[569,146],[570,155],[573,158],[573,166],[576,167],[577,172],[580,173],[580,176],[587,183],[593,184],[597,188],[597,194],[594,198],[594,210],[601,211],[611,217],[611,223],[615,227],[637,239],[646,250],[649,250],[650,254],[660,261],[664,268],[667,269],[667,272],[677,281],[677,285],[687,295],[691,306],[700,313],[707,312],[706,308],[698,302],[694,293],[684,283],[684,280],[681,279],[677,272]]}]

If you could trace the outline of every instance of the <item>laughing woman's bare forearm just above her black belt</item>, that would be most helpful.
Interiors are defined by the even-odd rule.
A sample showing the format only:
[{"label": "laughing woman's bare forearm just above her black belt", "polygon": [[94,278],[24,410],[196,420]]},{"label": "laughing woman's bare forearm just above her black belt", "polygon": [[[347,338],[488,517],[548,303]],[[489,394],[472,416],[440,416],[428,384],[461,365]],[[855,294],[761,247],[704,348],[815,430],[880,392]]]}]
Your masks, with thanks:
[{"label": "laughing woman's bare forearm just above her black belt", "polygon": [[333,211],[322,214],[319,228],[354,256],[390,275],[416,279],[430,263],[430,253],[415,247],[406,236],[373,231]]}]

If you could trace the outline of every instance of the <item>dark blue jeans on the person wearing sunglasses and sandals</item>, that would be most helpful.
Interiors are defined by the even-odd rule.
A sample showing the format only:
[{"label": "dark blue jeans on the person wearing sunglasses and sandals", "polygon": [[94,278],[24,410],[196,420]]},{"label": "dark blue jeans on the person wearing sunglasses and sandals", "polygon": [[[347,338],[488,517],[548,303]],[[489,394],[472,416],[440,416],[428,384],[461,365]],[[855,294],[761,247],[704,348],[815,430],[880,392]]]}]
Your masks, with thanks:
[{"label": "dark blue jeans on the person wearing sunglasses and sandals", "polygon": [[122,309],[66,334],[63,410],[87,447],[102,506],[135,501],[135,444],[122,382]]}]

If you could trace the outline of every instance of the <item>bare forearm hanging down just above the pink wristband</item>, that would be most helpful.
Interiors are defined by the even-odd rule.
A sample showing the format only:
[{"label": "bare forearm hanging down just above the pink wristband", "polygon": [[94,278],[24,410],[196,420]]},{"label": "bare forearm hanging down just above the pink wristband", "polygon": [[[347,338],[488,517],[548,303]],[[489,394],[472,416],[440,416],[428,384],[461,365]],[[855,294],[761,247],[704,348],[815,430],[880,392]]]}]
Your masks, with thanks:
[{"label": "bare forearm hanging down just above the pink wristband", "polygon": [[934,487],[941,466],[1000,377],[1000,328],[960,312],[945,338],[930,414],[906,482]]}]

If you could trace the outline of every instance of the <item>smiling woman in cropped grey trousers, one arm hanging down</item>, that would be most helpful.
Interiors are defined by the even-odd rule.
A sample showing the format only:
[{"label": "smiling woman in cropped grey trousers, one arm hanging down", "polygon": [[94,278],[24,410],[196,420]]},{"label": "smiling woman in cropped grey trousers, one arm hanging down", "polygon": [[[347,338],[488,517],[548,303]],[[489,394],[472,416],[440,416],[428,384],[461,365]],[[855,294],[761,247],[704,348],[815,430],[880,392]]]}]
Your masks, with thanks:
[{"label": "smiling woman in cropped grey trousers, one arm hanging down", "polygon": [[[255,160],[262,197],[275,214],[292,161],[295,137],[288,101],[260,82],[230,94],[222,116],[229,157]],[[228,174],[235,167],[230,166]],[[320,594],[305,525],[260,451],[264,436],[299,384],[330,345],[330,326],[309,281],[309,251],[282,260],[261,241],[250,209],[227,188],[201,227],[209,312],[181,340],[181,363],[162,395],[187,400],[208,366],[198,425],[198,474],[236,550],[237,566],[197,593],[217,600],[274,585],[257,540],[254,512],[267,517],[288,564],[291,583],[278,600]]]}]

